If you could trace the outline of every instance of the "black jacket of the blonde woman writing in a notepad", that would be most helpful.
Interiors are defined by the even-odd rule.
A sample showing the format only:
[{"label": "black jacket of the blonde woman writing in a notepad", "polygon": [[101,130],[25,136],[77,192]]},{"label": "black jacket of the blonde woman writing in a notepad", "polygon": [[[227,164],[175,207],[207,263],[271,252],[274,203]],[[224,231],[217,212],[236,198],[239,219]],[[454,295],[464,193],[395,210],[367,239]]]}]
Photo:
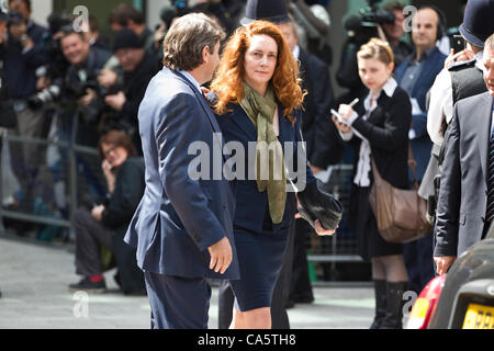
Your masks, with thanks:
[{"label": "black jacket of the blonde woman writing in a notepad", "polygon": [[[369,140],[371,154],[374,157],[381,177],[393,186],[408,189],[408,128],[412,120],[412,105],[406,92],[396,87],[393,97],[384,91],[378,99],[378,106],[366,121],[362,97],[355,106],[359,117],[352,127]],[[353,170],[359,160],[361,139],[357,136],[350,140],[356,148]]]}]

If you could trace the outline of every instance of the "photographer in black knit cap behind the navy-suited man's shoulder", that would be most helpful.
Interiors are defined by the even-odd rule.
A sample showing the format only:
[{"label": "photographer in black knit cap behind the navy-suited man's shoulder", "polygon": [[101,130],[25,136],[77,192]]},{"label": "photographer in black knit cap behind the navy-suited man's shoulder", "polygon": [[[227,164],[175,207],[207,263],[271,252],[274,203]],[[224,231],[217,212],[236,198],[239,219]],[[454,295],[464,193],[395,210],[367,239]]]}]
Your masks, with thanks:
[{"label": "photographer in black knit cap behind the navy-suited man's shoulder", "polygon": [[155,58],[144,50],[138,36],[128,29],[116,34],[113,52],[124,70],[123,87],[117,91],[115,84],[103,81],[101,78],[104,72],[98,78],[101,86],[112,92],[104,97],[104,102],[114,112],[111,117],[105,117],[104,128],[124,129],[138,154],[142,154],[137,112],[149,80],[158,72],[158,66]]}]

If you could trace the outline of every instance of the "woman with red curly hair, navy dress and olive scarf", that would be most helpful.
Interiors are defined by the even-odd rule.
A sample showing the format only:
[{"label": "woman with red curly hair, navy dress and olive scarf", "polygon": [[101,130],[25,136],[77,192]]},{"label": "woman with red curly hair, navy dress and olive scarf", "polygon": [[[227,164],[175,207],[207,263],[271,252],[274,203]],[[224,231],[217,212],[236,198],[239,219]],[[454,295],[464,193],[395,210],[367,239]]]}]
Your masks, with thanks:
[{"label": "woman with red curly hair, navy dress and olive scarf", "polygon": [[[297,75],[280,30],[256,21],[229,38],[211,83],[223,138],[226,145],[237,146],[232,160],[236,161],[234,234],[240,280],[229,282],[235,294],[233,328],[271,328],[272,291],[296,212],[287,169],[293,160],[300,165],[303,154],[299,143],[304,92]],[[243,157],[239,149],[249,152]],[[315,179],[305,158],[296,182],[303,189]],[[334,233],[318,222],[316,230]]]}]

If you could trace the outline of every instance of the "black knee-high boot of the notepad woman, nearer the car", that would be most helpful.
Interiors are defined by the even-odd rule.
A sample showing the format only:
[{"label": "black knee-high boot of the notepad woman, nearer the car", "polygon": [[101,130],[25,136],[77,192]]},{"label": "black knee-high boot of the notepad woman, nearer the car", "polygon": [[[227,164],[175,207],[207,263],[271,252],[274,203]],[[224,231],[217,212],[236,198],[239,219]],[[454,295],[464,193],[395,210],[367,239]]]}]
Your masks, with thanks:
[{"label": "black knee-high boot of the notepad woman, nearer the car", "polygon": [[408,282],[386,282],[386,315],[381,329],[402,329],[403,294],[408,288]]}]

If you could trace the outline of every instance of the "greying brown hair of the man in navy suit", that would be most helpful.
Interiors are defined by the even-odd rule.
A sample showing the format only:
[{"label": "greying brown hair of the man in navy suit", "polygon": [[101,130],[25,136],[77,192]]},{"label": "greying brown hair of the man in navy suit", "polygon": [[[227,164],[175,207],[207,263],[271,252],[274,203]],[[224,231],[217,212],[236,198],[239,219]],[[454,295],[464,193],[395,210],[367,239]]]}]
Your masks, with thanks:
[{"label": "greying brown hair of the man in navy suit", "polygon": [[186,14],[173,22],[165,37],[162,64],[170,69],[193,70],[203,63],[203,48],[207,46],[213,53],[225,36],[215,20],[203,13]]}]

